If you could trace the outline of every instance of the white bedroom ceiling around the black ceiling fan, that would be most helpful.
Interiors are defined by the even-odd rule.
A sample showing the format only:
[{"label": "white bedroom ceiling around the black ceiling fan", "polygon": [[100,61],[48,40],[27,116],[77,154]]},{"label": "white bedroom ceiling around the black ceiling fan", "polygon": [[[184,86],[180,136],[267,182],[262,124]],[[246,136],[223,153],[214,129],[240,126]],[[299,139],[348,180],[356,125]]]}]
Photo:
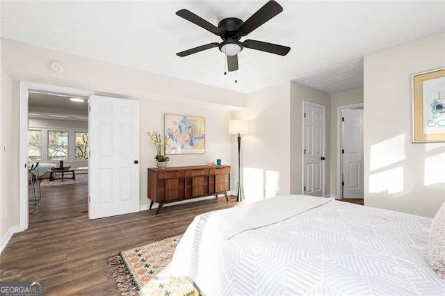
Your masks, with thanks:
[{"label": "white bedroom ceiling around the black ceiling fan", "polygon": [[363,57],[445,31],[445,1],[278,1],[284,11],[247,39],[291,47],[287,56],[252,49],[223,74],[218,48],[176,53],[218,36],[175,15],[186,8],[212,24],[248,19],[266,1],[5,1],[1,37],[149,72],[252,92],[296,81],[329,93],[363,86]]}]

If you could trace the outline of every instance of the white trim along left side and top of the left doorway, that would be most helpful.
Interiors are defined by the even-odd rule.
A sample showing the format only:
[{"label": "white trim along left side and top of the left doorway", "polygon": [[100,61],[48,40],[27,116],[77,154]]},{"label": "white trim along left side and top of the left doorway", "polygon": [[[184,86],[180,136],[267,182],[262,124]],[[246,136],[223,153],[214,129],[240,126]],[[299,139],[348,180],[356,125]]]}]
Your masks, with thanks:
[{"label": "white trim along left side and top of the left doorway", "polygon": [[89,97],[91,90],[19,81],[19,231],[28,229],[28,93],[30,90]]}]

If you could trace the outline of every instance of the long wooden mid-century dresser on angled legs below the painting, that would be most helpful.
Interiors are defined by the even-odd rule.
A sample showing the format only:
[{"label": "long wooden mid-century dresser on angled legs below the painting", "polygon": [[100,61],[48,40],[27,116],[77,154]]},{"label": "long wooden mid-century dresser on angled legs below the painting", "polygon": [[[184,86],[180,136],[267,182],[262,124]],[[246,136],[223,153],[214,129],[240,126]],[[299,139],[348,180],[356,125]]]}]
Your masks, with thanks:
[{"label": "long wooden mid-century dresser on angled legs below the painting", "polygon": [[167,167],[165,170],[148,169],[147,197],[159,202],[156,215],[163,204],[178,202],[184,199],[224,194],[227,201],[227,190],[230,188],[230,166],[195,165],[190,167]]}]

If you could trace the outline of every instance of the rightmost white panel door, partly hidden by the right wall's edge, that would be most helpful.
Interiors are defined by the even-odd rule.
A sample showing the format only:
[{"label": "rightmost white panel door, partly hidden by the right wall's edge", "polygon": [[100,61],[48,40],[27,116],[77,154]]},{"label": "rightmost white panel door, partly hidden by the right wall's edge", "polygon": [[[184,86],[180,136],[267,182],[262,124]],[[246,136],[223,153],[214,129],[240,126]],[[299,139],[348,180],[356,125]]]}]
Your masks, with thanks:
[{"label": "rightmost white panel door, partly hidden by the right wall's edge", "polygon": [[363,109],[343,114],[343,197],[363,198]]}]

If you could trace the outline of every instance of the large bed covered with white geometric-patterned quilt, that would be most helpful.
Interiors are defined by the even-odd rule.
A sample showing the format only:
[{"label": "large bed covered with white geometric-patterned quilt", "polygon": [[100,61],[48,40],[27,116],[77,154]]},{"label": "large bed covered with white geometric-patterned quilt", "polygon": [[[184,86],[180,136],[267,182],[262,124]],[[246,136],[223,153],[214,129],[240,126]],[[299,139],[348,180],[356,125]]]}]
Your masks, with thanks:
[{"label": "large bed covered with white geometric-patterned quilt", "polygon": [[428,259],[431,223],[286,195],[198,215],[171,267],[207,296],[444,295]]}]

